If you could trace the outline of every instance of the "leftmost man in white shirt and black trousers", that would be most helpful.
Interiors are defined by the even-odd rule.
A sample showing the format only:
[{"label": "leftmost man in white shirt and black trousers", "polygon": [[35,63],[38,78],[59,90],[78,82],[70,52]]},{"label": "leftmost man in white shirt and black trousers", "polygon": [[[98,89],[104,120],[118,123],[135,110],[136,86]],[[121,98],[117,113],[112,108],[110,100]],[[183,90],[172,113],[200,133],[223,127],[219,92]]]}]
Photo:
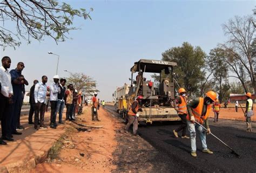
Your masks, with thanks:
[{"label": "leftmost man in white shirt and black trousers", "polygon": [[0,119],[2,127],[2,137],[0,138],[0,144],[6,145],[6,141],[14,141],[11,135],[11,116],[10,107],[12,103],[12,91],[11,74],[7,70],[11,66],[11,59],[9,57],[2,58],[2,66],[0,67]]}]

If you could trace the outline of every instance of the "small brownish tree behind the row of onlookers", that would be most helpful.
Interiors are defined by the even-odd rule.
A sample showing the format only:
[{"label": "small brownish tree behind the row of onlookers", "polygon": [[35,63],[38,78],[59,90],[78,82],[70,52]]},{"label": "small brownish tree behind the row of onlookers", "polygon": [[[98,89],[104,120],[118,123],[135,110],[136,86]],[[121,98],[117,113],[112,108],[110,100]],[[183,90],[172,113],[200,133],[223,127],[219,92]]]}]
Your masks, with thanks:
[{"label": "small brownish tree behind the row of onlookers", "polygon": [[97,82],[84,73],[71,73],[70,77],[66,79],[66,83],[68,85],[73,84],[73,87],[77,89],[78,92],[82,91],[86,96],[90,96],[94,92],[99,92],[98,89],[96,89]]}]

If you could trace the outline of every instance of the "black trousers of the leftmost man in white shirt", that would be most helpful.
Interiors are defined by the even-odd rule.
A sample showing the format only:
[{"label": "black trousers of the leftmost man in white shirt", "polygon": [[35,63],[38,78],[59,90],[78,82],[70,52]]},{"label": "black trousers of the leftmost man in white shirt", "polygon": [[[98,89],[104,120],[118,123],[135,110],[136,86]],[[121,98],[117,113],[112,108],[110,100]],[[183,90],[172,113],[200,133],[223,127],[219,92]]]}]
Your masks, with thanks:
[{"label": "black trousers of the leftmost man in white shirt", "polygon": [[11,105],[9,104],[9,98],[6,98],[0,92],[0,119],[2,127],[2,136],[11,135]]}]

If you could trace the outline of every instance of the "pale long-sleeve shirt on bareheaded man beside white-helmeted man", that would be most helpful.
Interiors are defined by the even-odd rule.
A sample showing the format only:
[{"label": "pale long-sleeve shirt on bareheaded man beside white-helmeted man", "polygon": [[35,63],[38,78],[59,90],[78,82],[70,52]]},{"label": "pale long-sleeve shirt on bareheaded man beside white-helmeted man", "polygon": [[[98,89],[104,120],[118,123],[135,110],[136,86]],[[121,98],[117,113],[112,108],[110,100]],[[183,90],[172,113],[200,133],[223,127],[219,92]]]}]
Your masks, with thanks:
[{"label": "pale long-sleeve shirt on bareheaded man beside white-helmeted man", "polygon": [[45,102],[47,87],[43,82],[37,83],[34,91],[35,103]]}]

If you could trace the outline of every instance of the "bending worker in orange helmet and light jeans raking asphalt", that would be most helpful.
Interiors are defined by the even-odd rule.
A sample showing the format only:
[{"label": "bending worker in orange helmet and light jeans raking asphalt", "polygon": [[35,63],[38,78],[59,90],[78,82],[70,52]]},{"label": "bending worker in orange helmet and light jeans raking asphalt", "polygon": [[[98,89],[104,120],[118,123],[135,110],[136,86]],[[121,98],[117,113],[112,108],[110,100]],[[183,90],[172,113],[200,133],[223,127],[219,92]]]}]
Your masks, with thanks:
[{"label": "bending worker in orange helmet and light jeans raking asphalt", "polygon": [[199,126],[195,121],[200,124],[205,122],[207,128],[207,134],[211,133],[208,115],[212,109],[212,102],[216,100],[216,93],[213,91],[208,91],[205,98],[197,98],[192,102],[187,104],[187,125],[190,131],[190,140],[191,140],[191,155],[197,157],[197,146],[196,146],[196,129],[199,132],[203,153],[213,154],[213,152],[207,148],[205,130],[203,127]]}]

